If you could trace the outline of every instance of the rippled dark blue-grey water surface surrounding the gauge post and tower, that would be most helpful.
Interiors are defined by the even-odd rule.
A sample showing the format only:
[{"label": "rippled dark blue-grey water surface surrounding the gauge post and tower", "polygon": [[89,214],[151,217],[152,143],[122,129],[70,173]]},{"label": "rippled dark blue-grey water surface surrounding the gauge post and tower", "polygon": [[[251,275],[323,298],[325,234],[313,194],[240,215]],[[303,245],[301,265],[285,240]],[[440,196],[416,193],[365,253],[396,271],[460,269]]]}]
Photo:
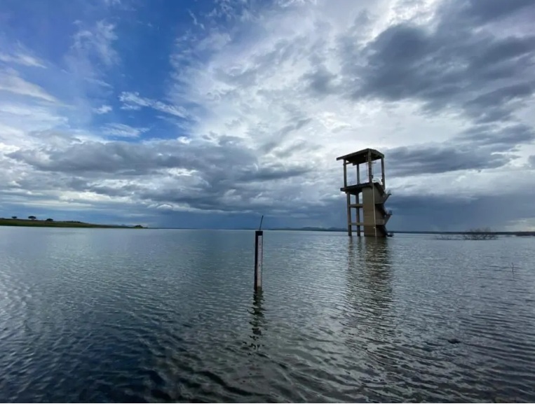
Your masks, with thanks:
[{"label": "rippled dark blue-grey water surface surrounding the gauge post and tower", "polygon": [[253,246],[0,228],[0,401],[535,400],[535,239]]}]

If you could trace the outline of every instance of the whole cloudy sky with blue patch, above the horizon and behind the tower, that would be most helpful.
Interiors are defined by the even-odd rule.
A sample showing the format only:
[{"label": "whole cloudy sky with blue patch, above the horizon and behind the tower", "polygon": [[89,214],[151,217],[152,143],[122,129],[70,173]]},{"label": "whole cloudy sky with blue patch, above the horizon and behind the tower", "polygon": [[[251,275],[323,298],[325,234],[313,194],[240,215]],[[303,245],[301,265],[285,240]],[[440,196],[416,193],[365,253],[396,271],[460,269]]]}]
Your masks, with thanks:
[{"label": "whole cloudy sky with blue patch, above the horizon and behind the tower", "polygon": [[[4,0],[0,216],[535,230],[535,0]],[[380,172],[380,169],[379,169]]]}]

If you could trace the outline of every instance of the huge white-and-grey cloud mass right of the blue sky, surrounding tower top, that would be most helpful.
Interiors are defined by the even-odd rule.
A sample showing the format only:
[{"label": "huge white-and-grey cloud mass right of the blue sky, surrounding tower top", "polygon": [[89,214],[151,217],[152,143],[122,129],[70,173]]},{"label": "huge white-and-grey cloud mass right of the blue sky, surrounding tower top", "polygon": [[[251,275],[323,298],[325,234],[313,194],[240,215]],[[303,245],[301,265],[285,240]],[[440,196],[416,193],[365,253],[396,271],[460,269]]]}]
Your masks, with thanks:
[{"label": "huge white-and-grey cloud mass right of the blue sky, surrounding tower top", "polygon": [[[451,184],[453,174],[507,172],[534,140],[519,115],[533,106],[533,7],[490,7],[339,1],[337,11],[318,1],[252,10],[262,17],[233,32],[181,39],[170,97],[196,106],[198,136],[231,132],[264,163],[308,160],[324,195],[341,175],[330,159],[367,146],[385,151],[394,188],[413,181],[405,194],[421,195],[432,183],[409,176],[444,174]],[[512,21],[525,29],[508,29]],[[239,41],[243,32],[248,41]],[[224,34],[220,46],[200,45]],[[312,176],[301,175],[305,183]],[[484,178],[473,195],[492,188]]]}]

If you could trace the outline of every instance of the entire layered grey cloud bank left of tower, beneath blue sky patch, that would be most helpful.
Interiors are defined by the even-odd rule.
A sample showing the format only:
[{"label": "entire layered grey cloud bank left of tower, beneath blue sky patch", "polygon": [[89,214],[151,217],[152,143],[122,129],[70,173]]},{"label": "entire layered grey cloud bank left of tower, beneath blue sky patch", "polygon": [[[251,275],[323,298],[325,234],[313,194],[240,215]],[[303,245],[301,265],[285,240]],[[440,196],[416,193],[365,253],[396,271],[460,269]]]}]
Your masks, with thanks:
[{"label": "entire layered grey cloud bank left of tower, beneath blue sky patch", "polygon": [[[21,188],[67,188],[219,211],[248,210],[254,206],[269,211],[274,208],[273,200],[256,204],[253,201],[265,191],[264,183],[286,181],[310,172],[306,165],[295,163],[261,164],[250,148],[233,137],[222,137],[217,144],[86,142],[57,149],[20,150],[9,157],[36,169],[34,175],[20,181]],[[167,169],[186,169],[193,174],[175,176]],[[55,175],[50,176],[50,172]],[[102,183],[103,178],[120,182]],[[291,198],[279,198],[276,204],[291,207]]]}]

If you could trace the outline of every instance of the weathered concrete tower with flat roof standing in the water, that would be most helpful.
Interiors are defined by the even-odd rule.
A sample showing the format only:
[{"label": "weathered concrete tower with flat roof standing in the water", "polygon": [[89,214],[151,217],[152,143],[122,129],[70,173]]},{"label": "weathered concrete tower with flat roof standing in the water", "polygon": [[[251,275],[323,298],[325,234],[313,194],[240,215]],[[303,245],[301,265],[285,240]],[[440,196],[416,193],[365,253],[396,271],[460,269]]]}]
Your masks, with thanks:
[{"label": "weathered concrete tower with flat roof standing in the water", "polygon": [[[390,196],[385,186],[384,154],[372,148],[355,153],[342,155],[337,160],[344,162],[344,187],[341,192],[346,193],[347,204],[347,234],[353,235],[356,230],[360,237],[388,237],[386,223],[392,216],[392,211],[384,207]],[[374,178],[374,165],[381,162],[381,178]],[[356,167],[355,181],[351,181],[353,174],[348,172],[348,166]],[[364,181],[361,182],[360,167],[363,166]],[[353,214],[354,211],[354,214]]]}]

